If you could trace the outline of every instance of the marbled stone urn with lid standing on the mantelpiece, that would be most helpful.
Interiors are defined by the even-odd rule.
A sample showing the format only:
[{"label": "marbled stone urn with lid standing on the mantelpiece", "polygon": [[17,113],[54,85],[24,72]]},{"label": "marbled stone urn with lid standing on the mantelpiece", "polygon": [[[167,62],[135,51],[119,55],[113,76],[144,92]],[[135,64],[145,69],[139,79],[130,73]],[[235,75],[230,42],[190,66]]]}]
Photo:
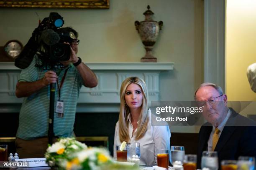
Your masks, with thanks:
[{"label": "marbled stone urn with lid standing on the mantelpiece", "polygon": [[156,43],[156,39],[159,35],[159,31],[163,26],[163,21],[154,21],[152,19],[154,13],[149,10],[150,6],[148,5],[148,10],[143,13],[145,15],[144,21],[135,21],[136,30],[141,37],[144,48],[146,49],[146,54],[141,58],[141,62],[157,62],[157,58],[152,55],[153,45]]}]

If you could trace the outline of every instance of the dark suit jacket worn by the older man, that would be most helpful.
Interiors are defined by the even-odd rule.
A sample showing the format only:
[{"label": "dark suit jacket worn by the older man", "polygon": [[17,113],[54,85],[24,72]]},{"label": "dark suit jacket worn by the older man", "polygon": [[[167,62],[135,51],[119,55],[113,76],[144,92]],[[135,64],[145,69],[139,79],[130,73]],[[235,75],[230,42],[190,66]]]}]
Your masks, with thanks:
[{"label": "dark suit jacket worn by the older man", "polygon": [[[215,147],[218,152],[219,169],[221,160],[237,160],[239,156],[256,157],[256,122],[239,115],[232,108],[231,115],[226,122]],[[242,126],[246,125],[246,126]],[[197,152],[197,168],[201,168],[202,152],[208,150],[208,139],[212,125],[205,123],[200,128]]]}]

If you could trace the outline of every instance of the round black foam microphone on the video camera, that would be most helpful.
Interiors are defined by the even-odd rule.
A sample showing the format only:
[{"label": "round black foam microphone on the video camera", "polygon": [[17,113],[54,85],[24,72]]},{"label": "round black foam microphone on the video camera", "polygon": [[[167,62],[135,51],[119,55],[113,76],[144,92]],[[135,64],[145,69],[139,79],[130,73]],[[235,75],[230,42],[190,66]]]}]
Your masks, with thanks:
[{"label": "round black foam microphone on the video camera", "polygon": [[42,31],[41,40],[46,45],[55,45],[59,42],[60,37],[56,32],[54,32],[54,30],[47,29]]}]

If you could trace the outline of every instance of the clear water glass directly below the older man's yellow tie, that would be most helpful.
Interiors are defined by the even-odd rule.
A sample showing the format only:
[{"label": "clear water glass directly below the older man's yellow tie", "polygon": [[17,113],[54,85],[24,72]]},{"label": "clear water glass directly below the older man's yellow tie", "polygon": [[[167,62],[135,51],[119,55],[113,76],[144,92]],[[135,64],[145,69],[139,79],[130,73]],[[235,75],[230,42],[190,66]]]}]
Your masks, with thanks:
[{"label": "clear water glass directly below the older man's yellow tie", "polygon": [[216,151],[204,151],[202,153],[201,168],[209,168],[210,170],[218,170],[218,153]]}]

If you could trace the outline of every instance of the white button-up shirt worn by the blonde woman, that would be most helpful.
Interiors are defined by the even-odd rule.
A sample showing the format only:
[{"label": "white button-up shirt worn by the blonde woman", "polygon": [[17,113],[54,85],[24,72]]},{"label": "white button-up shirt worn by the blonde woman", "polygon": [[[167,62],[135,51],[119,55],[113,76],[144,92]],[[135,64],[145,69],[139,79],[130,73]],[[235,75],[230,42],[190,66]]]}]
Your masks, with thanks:
[{"label": "white button-up shirt worn by the blonde woman", "polygon": [[[148,110],[148,127],[144,136],[135,140],[135,136],[133,133],[133,125],[131,123],[131,113],[128,115],[128,129],[130,136],[130,143],[140,143],[141,148],[141,164],[146,165],[155,165],[157,163],[156,159],[156,150],[157,149],[168,149],[170,150],[170,138],[171,133],[169,126],[152,126],[151,125],[151,116],[155,117],[155,115],[151,115],[151,110]],[[136,128],[135,132],[138,128]],[[123,142],[123,141],[122,141]],[[115,140],[114,140],[114,158],[116,159],[116,146],[121,145],[119,138],[119,122],[115,125]]]}]

